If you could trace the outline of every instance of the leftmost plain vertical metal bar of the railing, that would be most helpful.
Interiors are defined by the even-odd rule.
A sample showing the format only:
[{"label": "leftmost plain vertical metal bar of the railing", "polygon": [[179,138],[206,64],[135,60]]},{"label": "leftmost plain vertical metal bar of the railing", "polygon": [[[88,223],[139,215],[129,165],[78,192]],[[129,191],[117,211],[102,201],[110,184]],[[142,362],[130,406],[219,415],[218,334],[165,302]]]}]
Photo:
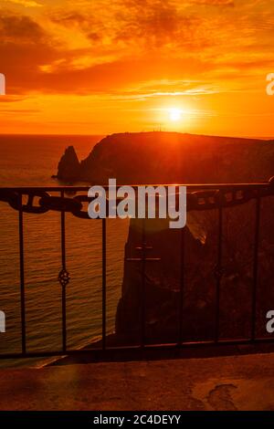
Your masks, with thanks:
[{"label": "leftmost plain vertical metal bar of the railing", "polygon": [[20,303],[21,303],[21,341],[22,353],[26,354],[26,299],[25,299],[25,265],[24,265],[24,221],[22,194],[19,196],[19,255],[20,255]]}]

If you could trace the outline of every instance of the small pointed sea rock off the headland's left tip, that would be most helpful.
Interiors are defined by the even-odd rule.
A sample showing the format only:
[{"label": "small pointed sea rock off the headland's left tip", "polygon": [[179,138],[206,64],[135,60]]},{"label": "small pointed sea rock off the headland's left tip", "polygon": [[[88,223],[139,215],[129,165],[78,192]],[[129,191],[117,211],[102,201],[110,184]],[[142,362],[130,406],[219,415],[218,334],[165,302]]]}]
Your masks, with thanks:
[{"label": "small pointed sea rock off the headland's left tip", "polygon": [[80,163],[73,146],[68,146],[58,163],[58,179],[74,182],[80,176]]}]

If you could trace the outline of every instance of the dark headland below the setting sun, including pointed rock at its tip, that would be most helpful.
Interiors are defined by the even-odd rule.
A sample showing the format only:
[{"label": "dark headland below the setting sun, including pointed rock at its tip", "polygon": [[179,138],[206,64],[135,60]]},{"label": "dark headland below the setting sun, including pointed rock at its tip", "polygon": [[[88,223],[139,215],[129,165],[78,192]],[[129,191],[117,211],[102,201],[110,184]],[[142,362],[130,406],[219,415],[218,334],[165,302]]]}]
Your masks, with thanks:
[{"label": "dark headland below the setting sun, including pointed rock at its tip", "polygon": [[[68,153],[67,153],[68,152]],[[112,134],[80,163],[69,149],[58,178],[89,183],[261,182],[273,175],[273,141],[178,132]]]}]

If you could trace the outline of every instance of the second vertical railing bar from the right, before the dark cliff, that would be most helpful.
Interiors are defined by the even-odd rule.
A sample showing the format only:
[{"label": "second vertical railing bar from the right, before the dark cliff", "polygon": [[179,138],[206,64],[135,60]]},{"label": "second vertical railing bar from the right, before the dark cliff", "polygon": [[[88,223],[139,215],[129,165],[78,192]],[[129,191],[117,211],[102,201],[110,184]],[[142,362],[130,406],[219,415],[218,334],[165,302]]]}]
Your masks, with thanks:
[{"label": "second vertical railing bar from the right, before the dark cliff", "polygon": [[220,326],[220,289],[222,279],[222,255],[223,254],[223,209],[218,209],[218,244],[217,244],[217,267],[216,267],[216,314],[215,314],[215,342],[219,340]]}]

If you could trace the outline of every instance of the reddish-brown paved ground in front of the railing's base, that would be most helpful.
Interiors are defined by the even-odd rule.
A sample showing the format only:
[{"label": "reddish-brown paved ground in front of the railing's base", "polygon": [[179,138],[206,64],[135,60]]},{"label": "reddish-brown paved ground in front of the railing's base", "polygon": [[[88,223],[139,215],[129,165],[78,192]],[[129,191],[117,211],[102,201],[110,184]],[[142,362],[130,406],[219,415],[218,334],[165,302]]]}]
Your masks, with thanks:
[{"label": "reddish-brown paved ground in front of the railing's base", "polygon": [[1,410],[274,410],[274,354],[0,371]]}]

